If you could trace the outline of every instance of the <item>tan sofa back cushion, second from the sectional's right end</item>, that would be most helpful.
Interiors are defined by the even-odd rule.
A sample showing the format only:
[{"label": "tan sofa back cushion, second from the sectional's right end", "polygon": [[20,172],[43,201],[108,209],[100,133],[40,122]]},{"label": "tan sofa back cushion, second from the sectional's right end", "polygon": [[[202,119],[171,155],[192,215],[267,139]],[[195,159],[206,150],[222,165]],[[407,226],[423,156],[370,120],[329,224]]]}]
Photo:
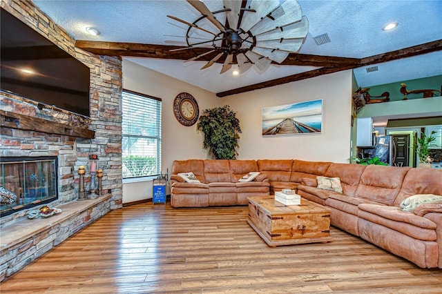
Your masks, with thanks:
[{"label": "tan sofa back cushion, second from the sectional's right end", "polygon": [[410,168],[371,164],[363,171],[354,197],[392,205],[408,170]]}]

